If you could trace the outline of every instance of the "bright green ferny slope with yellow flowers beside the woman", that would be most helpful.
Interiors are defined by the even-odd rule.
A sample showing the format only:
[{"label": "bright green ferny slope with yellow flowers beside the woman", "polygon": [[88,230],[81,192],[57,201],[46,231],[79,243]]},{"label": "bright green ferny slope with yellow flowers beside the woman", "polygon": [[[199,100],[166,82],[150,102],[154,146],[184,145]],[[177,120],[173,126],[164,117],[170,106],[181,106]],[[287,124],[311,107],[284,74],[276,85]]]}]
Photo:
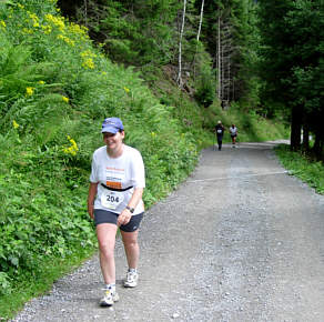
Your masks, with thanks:
[{"label": "bright green ferny slope with yellow flowers beside the woman", "polygon": [[84,200],[104,118],[120,117],[143,154],[148,205],[198,159],[195,138],[139,74],[111,63],[53,1],[23,3],[0,4],[1,293],[43,258],[93,246]]}]

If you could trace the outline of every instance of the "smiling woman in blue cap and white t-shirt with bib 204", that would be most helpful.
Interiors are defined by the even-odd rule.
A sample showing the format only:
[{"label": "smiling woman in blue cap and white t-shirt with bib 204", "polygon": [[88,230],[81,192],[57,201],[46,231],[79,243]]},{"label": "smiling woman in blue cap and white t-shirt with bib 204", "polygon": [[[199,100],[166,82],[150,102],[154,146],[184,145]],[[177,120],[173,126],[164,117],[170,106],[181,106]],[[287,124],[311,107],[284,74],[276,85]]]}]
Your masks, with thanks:
[{"label": "smiling woman in blue cap and white t-shirt with bib 204", "polygon": [[100,266],[105,283],[101,306],[119,300],[115,290],[114,245],[118,228],[122,235],[129,270],[124,286],[138,284],[140,249],[138,230],[144,213],[144,164],[138,150],[123,143],[123,123],[108,118],[102,123],[104,147],[93,153],[88,212],[94,219]]}]

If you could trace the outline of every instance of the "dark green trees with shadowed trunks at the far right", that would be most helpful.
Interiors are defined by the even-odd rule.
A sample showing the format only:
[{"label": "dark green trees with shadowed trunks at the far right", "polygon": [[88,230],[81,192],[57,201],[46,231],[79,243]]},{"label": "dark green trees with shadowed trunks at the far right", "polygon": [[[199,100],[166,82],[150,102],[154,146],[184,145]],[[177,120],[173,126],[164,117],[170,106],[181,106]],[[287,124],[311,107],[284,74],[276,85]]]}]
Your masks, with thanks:
[{"label": "dark green trees with shadowed trunks at the far right", "polygon": [[[323,157],[323,1],[259,1],[262,36],[263,98],[291,110],[292,145],[300,148],[302,127],[315,134]],[[295,111],[298,111],[295,113]]]}]

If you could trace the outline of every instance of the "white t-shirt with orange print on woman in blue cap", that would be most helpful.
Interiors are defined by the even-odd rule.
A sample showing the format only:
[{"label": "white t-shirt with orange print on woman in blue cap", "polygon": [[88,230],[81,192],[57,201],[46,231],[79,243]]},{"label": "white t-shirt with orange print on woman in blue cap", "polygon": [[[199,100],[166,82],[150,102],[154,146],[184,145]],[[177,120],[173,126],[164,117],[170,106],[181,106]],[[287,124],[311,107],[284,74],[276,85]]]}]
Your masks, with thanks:
[{"label": "white t-shirt with orange print on woman in blue cap", "polygon": [[[128,205],[134,188],[145,188],[145,171],[141,153],[129,145],[123,147],[119,158],[110,158],[107,147],[97,149],[92,157],[90,182],[99,183],[94,209],[121,213]],[[114,190],[105,189],[104,185]],[[133,187],[125,191],[118,191]],[[141,200],[133,214],[144,211]]]}]

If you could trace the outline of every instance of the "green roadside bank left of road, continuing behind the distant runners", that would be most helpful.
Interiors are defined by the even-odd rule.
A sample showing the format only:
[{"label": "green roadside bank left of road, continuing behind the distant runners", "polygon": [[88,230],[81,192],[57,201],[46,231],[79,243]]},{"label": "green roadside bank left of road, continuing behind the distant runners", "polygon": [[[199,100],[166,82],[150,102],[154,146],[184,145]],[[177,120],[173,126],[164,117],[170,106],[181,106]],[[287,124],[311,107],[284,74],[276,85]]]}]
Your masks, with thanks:
[{"label": "green roadside bank left of road, continuing behind the distant runners", "polygon": [[284,117],[265,119],[246,100],[222,109],[212,95],[206,108],[206,53],[194,99],[156,67],[112,62],[52,0],[1,1],[0,43],[0,320],[97,250],[85,199],[104,118],[120,117],[143,155],[146,208],[191,173],[217,120],[241,141],[288,135]]}]

